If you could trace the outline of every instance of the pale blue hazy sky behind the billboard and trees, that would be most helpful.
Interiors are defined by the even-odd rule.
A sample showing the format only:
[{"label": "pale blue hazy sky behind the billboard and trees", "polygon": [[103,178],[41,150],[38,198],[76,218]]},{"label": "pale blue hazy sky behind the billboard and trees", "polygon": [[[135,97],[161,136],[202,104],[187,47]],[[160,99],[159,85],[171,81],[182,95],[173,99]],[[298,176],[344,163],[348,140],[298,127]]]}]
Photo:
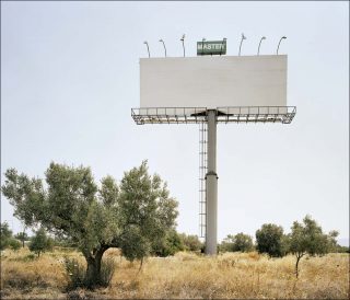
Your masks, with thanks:
[{"label": "pale blue hazy sky behind the billboard and trees", "polygon": [[[311,215],[349,238],[349,2],[1,1],[1,184],[15,168],[44,178],[51,161],[91,166],[96,182],[148,160],[178,200],[177,230],[199,234],[199,126],[136,125],[139,59],[288,55],[293,122],[219,124],[218,238],[255,235]],[[22,224],[1,195],[1,221]]]}]

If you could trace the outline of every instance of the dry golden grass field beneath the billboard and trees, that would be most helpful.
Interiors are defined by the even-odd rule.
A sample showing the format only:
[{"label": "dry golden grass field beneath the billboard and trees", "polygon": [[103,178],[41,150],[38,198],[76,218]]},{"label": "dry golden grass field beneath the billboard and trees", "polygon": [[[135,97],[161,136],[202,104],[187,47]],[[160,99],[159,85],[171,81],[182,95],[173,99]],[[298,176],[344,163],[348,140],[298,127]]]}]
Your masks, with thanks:
[{"label": "dry golden grass field beneath the billboard and trees", "polygon": [[84,262],[79,252],[56,250],[36,258],[26,249],[5,251],[1,256],[1,299],[349,299],[349,254],[303,258],[296,279],[293,256],[177,253],[150,257],[139,272],[139,263],[129,263],[117,250],[108,250],[104,256],[116,263],[110,286],[70,292],[65,289],[65,256]]}]

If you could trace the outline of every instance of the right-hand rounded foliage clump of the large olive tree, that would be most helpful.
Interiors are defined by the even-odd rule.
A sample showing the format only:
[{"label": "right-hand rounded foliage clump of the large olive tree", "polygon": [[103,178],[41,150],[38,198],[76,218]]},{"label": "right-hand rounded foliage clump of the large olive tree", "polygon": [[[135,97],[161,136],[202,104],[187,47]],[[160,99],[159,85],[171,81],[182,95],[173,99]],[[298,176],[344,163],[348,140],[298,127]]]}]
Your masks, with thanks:
[{"label": "right-hand rounded foliage clump of the large olive tree", "polygon": [[162,184],[159,175],[148,174],[145,162],[125,172],[119,191],[121,251],[130,261],[141,259],[150,253],[152,244],[164,241],[166,232],[175,226],[177,203],[170,198],[166,184]]}]

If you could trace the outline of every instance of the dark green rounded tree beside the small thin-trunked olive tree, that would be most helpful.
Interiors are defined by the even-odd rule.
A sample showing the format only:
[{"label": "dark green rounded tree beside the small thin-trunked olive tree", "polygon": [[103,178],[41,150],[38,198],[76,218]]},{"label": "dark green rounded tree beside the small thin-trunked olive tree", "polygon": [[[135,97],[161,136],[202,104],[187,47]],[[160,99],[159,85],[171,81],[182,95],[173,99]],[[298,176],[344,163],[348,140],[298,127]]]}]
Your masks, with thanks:
[{"label": "dark green rounded tree beside the small thin-trunked olive tree", "polygon": [[273,257],[281,257],[285,254],[285,239],[283,238],[283,228],[277,224],[262,224],[261,229],[256,231],[256,249],[259,253],[268,253]]}]

